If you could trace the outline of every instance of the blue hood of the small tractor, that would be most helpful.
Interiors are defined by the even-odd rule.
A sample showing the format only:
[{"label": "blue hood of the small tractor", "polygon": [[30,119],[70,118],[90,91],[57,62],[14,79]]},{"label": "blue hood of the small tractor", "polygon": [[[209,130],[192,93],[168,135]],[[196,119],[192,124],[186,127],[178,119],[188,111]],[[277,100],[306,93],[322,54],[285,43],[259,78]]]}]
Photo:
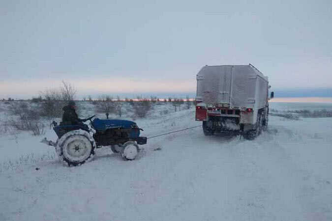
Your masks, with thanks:
[{"label": "blue hood of the small tractor", "polygon": [[92,121],[92,125],[97,131],[105,131],[110,128],[124,128],[129,129],[131,126],[136,125],[135,122],[129,120],[111,120],[111,119],[99,119],[95,118]]}]

